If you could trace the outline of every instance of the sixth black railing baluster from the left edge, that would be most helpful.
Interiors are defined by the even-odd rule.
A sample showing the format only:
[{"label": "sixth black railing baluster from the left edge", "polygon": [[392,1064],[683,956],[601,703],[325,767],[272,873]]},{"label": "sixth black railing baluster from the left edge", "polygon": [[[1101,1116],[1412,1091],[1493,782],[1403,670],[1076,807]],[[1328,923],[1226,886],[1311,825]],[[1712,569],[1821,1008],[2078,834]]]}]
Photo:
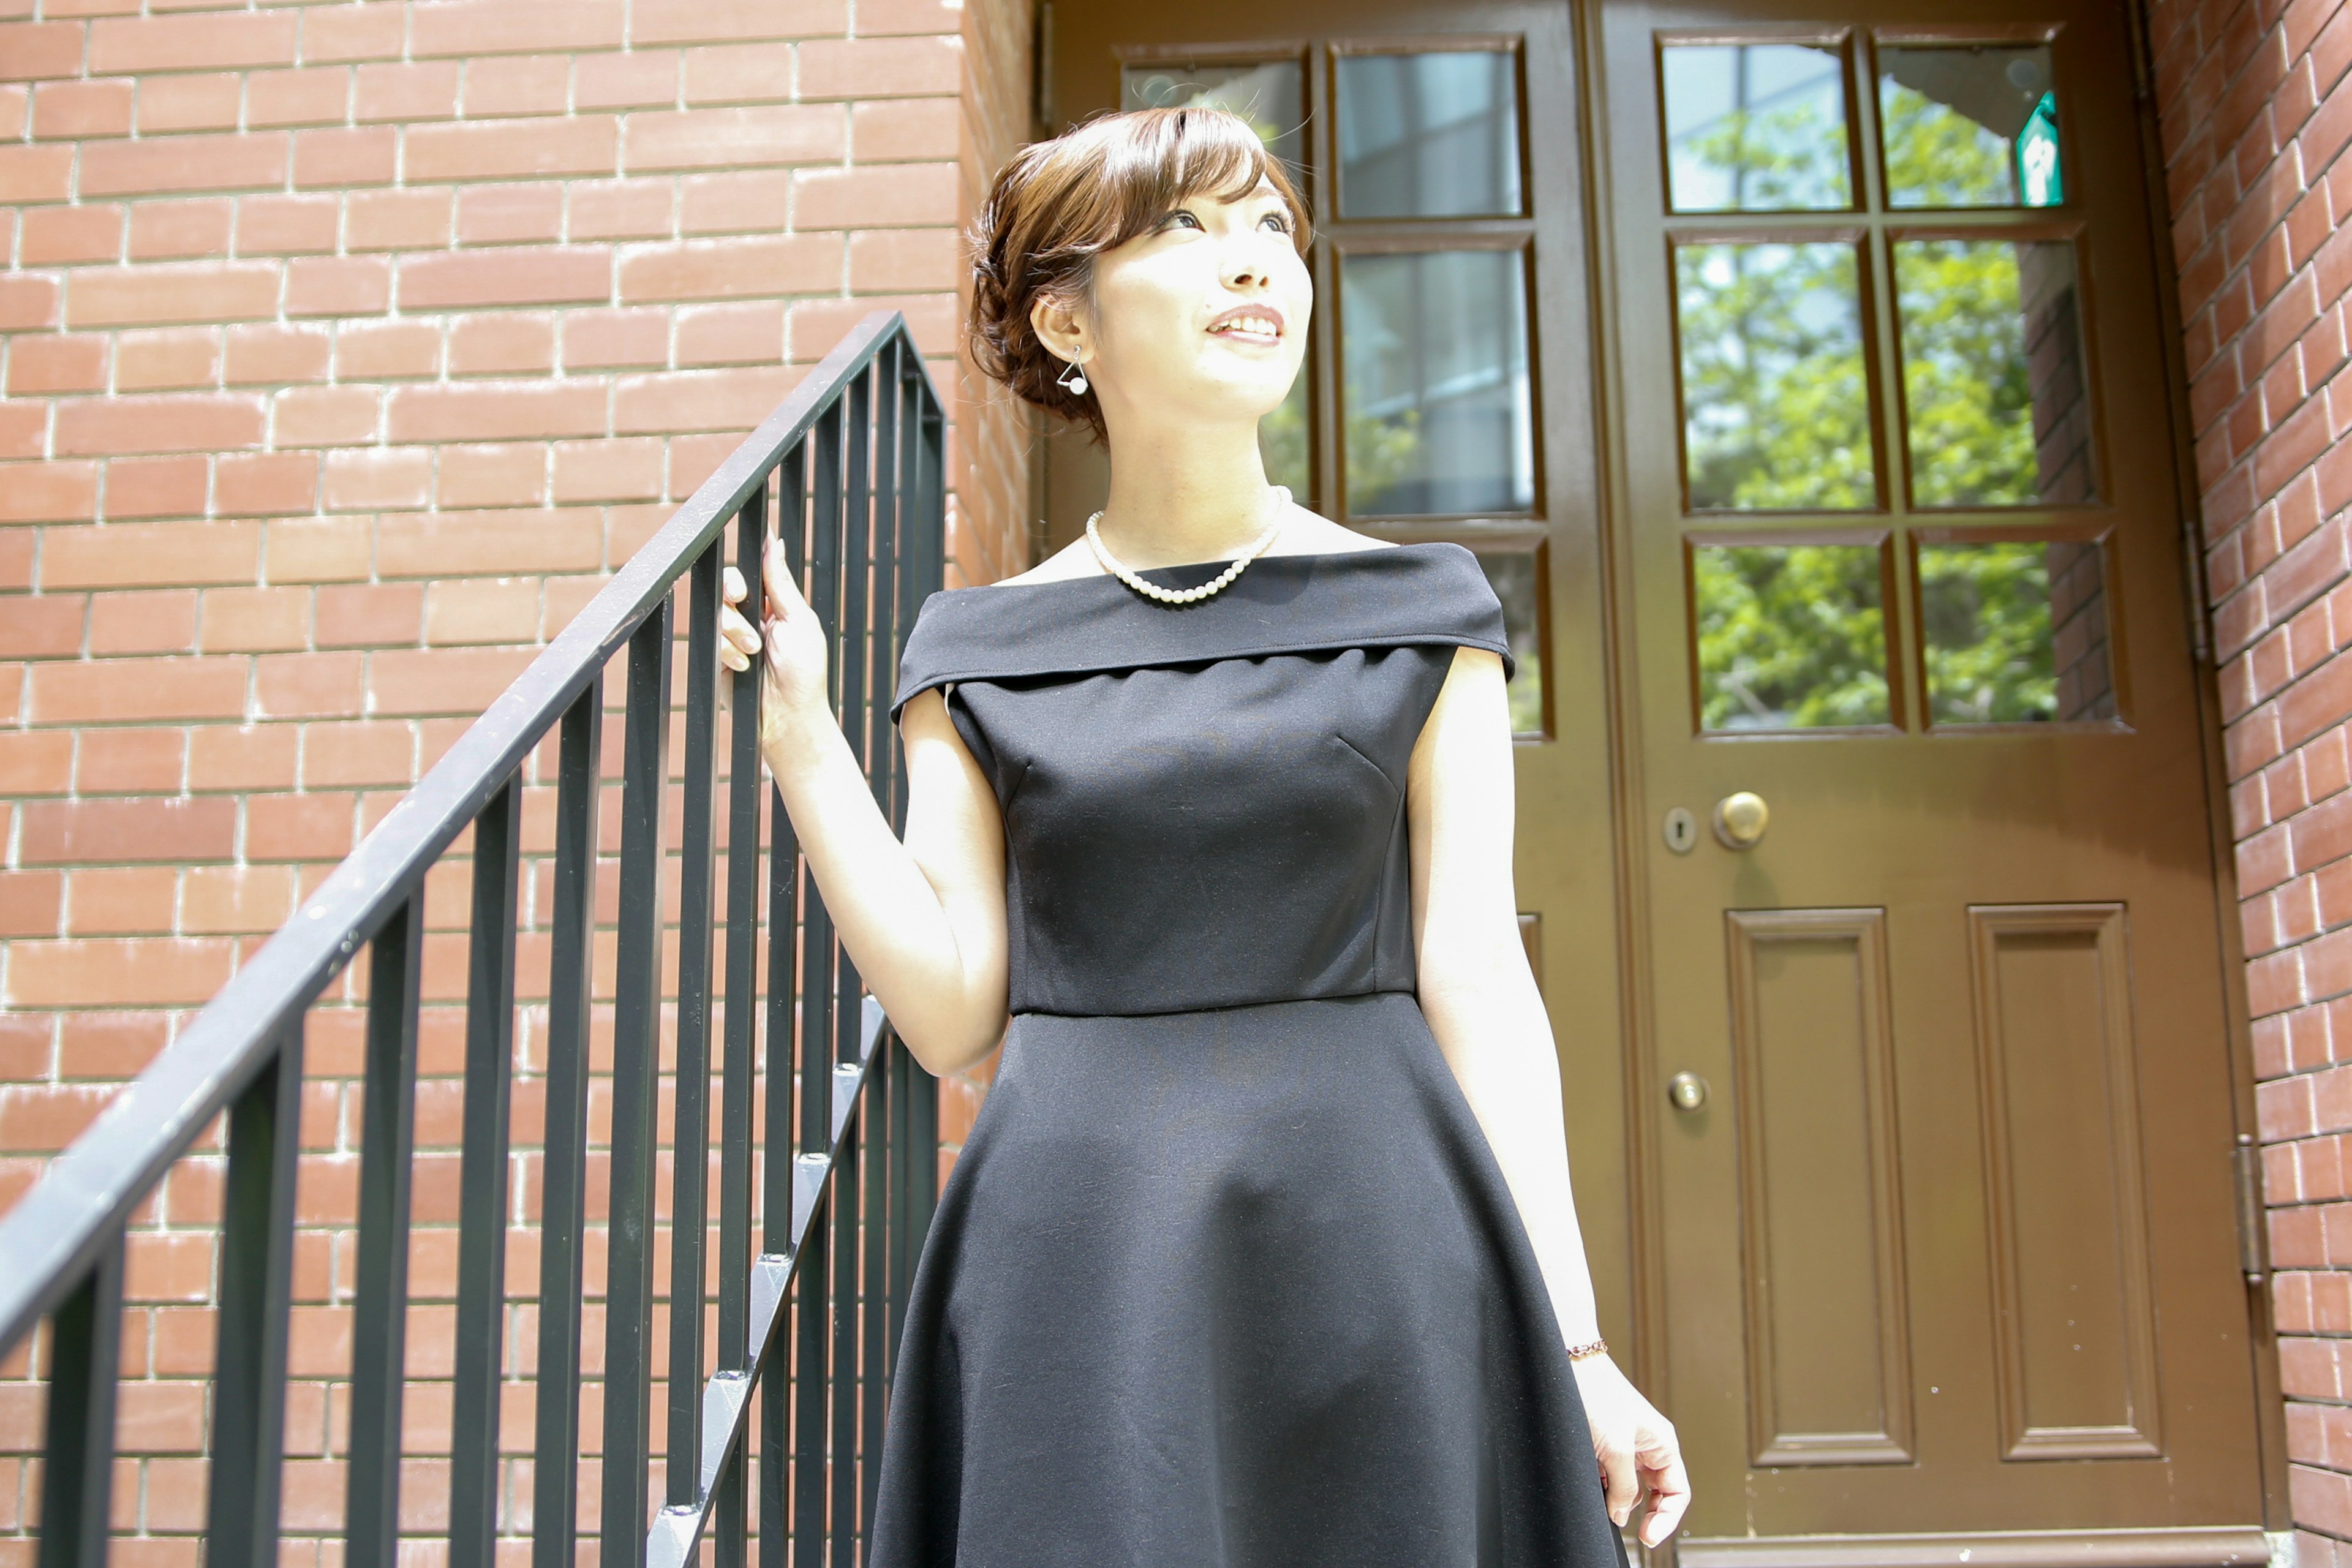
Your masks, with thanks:
[{"label": "sixth black railing baluster from the left edge", "polygon": [[654,1392],[654,1098],[661,1060],[661,797],[670,766],[670,599],[628,639],[621,736],[621,945],[612,1025],[612,1237],[604,1286],[600,1561],[644,1561]]}]

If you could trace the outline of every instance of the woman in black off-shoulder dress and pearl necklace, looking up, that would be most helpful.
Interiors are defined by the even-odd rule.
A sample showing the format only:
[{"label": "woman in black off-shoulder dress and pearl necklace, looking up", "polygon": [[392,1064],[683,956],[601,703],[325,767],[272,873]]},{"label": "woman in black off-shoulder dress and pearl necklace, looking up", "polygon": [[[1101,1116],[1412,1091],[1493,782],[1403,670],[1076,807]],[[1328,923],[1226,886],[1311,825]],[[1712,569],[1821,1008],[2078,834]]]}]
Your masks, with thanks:
[{"label": "woman in black off-shoulder dress and pearl necklace, looking up", "polygon": [[724,637],[767,649],[767,766],[901,1039],[941,1074],[1004,1044],[910,1288],[873,1561],[1623,1563],[1686,1483],[1569,1201],[1501,604],[1461,545],[1268,487],[1308,219],[1242,120],[1030,146],[978,228],[974,355],[1108,442],[1110,498],[924,604],[903,844],[779,555],[764,635]]}]

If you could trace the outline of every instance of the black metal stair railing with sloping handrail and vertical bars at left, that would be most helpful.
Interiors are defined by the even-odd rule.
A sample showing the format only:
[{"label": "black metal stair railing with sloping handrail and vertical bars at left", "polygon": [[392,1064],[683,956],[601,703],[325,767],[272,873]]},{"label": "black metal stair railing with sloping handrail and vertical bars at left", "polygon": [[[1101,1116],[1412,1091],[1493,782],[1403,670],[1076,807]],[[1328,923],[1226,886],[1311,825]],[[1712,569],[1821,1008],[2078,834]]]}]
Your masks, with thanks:
[{"label": "black metal stair railing with sloping handrail and vertical bars at left", "polygon": [[[922,595],[938,588],[943,515],[938,395],[906,322],[875,313],[0,1220],[0,1352],[26,1342],[45,1319],[52,1324],[42,1563],[106,1559],[127,1227],[174,1161],[226,1112],[205,1439],[207,1563],[275,1566],[306,1020],[343,971],[360,966],[365,950],[365,976],[355,976],[365,980],[365,1098],[343,1563],[393,1568],[402,1535],[426,877],[445,856],[470,853],[447,1528],[449,1568],[492,1568],[494,1542],[508,1528],[501,1385],[510,1382],[506,1363],[520,1359],[506,1349],[506,1244],[522,806],[536,778],[534,752],[553,736],[529,1533],[534,1568],[574,1568],[579,1455],[588,1439],[583,1241],[595,1229],[588,1086],[597,811],[604,668],[614,658],[626,658],[626,708],[609,976],[612,1180],[602,1225],[602,1563],[684,1563],[708,1530],[717,1563],[741,1566],[753,1490],[764,1566],[861,1561],[906,1281],[936,1197],[936,1084],[863,997],[783,804],[762,780],[760,677],[757,668],[748,675],[720,668],[720,581],[731,543],[757,604],[762,538],[771,527],[781,531],[790,569],[833,628],[842,726],[875,799],[898,823],[906,773],[889,724],[889,686],[903,628]],[[663,947],[673,929],[663,837],[666,802],[677,792],[668,748],[680,583],[687,691],[684,759],[675,773],[684,802],[677,980],[666,992]],[[722,712],[722,679],[731,715]],[[452,853],[468,827],[470,851]],[[673,1030],[663,1027],[666,1004],[675,1004]],[[675,1053],[668,1077],[666,1039]],[[666,1086],[675,1114],[673,1185],[668,1218],[656,1222],[656,1107]],[[706,1345],[713,1208],[717,1342]],[[656,1244],[668,1246],[666,1361],[656,1347]],[[649,1495],[656,1385],[666,1387],[659,1505]],[[508,1514],[517,1509],[510,1500]]]}]

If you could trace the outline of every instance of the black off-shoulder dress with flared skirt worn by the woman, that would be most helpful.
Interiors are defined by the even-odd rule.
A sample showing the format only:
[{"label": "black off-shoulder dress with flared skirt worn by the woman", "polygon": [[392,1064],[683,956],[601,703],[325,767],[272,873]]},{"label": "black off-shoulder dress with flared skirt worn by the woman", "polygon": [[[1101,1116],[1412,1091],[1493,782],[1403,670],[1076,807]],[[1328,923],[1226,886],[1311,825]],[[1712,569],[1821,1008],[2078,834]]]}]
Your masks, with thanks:
[{"label": "black off-shoulder dress with flared skirt worn by the woman", "polygon": [[[1221,562],[1145,574],[1202,583]],[[931,595],[1011,1027],[915,1272],[877,1568],[1613,1568],[1576,1375],[1414,997],[1461,545]]]}]

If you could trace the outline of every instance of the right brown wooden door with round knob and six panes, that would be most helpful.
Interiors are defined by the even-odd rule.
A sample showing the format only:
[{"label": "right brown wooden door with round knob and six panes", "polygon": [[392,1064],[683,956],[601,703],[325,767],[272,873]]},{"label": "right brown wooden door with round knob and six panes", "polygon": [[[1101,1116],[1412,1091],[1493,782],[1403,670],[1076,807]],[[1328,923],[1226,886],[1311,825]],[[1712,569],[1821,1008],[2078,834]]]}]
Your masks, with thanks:
[{"label": "right brown wooden door with round knob and six panes", "polygon": [[2122,12],[1604,5],[1595,35],[1635,809],[1766,809],[1630,846],[1682,1552],[2251,1552]]}]

